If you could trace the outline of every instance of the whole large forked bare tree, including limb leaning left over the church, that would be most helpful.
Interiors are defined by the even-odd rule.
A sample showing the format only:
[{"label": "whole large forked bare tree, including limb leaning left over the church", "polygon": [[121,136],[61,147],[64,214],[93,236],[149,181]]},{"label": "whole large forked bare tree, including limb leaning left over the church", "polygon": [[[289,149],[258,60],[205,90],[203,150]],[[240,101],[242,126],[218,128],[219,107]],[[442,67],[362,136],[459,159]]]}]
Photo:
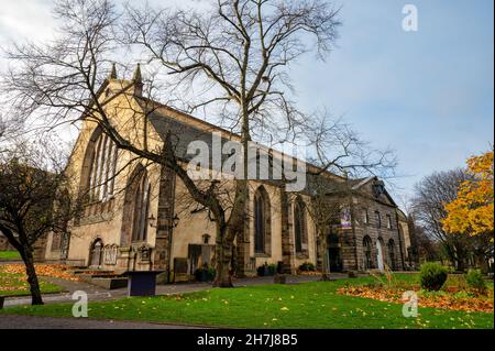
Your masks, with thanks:
[{"label": "whole large forked bare tree, including limb leaning left over the church", "polygon": [[[128,7],[121,15],[110,0],[58,0],[54,12],[61,21],[54,42],[15,44],[7,50],[8,58],[16,64],[2,81],[12,107],[10,119],[35,120],[36,125],[51,129],[92,122],[135,160],[172,171],[215,221],[217,286],[232,286],[233,245],[237,238],[242,239],[249,216],[249,183],[245,177],[235,179],[233,189],[226,193],[219,182],[196,182],[186,171],[188,158],[176,152],[180,134],[169,132],[160,147],[151,149],[147,136],[131,138],[116,125],[116,113],[122,111],[107,108],[100,87],[116,76],[110,67],[122,56],[123,44],[130,56],[140,51],[140,57],[144,55],[157,72],[148,77],[145,91],[129,98],[125,111],[129,124],[144,135],[150,117],[161,108],[154,99],[160,87],[164,96],[172,97],[167,98],[170,107],[217,117],[223,128],[239,135],[244,175],[248,144],[253,139],[276,146],[300,143],[298,136],[305,135],[317,154],[318,174],[370,172],[389,155],[378,153],[373,158],[375,153],[343,123],[329,122],[327,113],[304,113],[293,100],[290,64],[310,52],[324,59],[338,36],[339,10],[327,1],[218,0],[201,12]],[[127,66],[120,64],[120,68]],[[129,86],[142,89],[143,83],[138,70],[121,90]],[[334,145],[340,147],[337,154],[331,153]]]}]

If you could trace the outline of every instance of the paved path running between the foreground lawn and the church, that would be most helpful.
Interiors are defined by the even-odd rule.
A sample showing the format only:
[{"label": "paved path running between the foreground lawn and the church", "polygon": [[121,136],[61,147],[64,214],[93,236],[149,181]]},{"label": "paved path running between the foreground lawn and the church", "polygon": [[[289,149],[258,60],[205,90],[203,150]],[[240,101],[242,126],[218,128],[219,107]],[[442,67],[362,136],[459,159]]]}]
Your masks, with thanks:
[{"label": "paved path running between the foreground lawn and the church", "polygon": [[[334,275],[334,278],[344,278],[346,275]],[[56,303],[72,303],[73,301],[73,293],[76,290],[82,290],[88,294],[88,300],[90,303],[94,301],[103,301],[109,299],[119,299],[128,296],[127,288],[119,288],[113,290],[107,290],[102,287],[91,285],[85,282],[73,282],[54,277],[44,277],[45,281],[52,282],[54,284],[61,285],[66,293],[63,294],[44,294],[43,301],[45,304],[56,304]],[[315,282],[318,281],[319,276],[288,276],[287,284],[298,284],[305,282]],[[273,284],[273,277],[254,277],[254,278],[242,278],[237,279],[234,285],[237,287],[240,286],[251,286],[251,285],[261,285],[261,284]],[[185,294],[193,292],[202,292],[211,288],[211,284],[208,283],[183,283],[183,284],[167,284],[167,285],[157,285],[156,286],[156,295],[175,295],[175,294]],[[21,306],[21,305],[31,305],[31,297],[9,297],[6,298],[3,304],[4,308],[9,308],[11,306]]]}]

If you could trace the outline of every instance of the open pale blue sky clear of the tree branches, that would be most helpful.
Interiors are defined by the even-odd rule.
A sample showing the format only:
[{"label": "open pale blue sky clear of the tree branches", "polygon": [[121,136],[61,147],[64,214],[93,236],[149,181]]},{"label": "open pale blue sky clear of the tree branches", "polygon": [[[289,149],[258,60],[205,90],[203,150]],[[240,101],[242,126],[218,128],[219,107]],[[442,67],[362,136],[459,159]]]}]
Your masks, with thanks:
[{"label": "open pale blue sky clear of the tree branches", "polygon": [[[396,151],[393,194],[399,205],[424,176],[463,166],[491,147],[493,0],[334,3],[342,6],[338,46],[324,63],[309,55],[290,68],[297,100],[302,109],[324,107],[342,116],[371,145]],[[418,10],[416,32],[403,29],[406,4]],[[51,0],[0,0],[0,45],[51,37]]]}]

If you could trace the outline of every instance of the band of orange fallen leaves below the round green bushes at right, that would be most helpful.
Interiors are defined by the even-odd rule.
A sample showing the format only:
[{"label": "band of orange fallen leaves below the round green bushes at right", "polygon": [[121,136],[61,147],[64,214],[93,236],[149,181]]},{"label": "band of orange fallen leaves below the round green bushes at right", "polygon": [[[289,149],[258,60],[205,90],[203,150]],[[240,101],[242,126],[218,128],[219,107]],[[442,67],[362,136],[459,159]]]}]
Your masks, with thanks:
[{"label": "band of orange fallen leaves below the round green bushes at right", "polygon": [[[358,296],[364,298],[376,299],[386,303],[404,304],[403,290],[389,288],[376,288],[369,286],[346,286],[338,290],[341,295]],[[437,294],[418,293],[419,307],[442,308],[463,311],[481,311],[493,314],[493,295],[492,296],[457,296],[447,292]]]}]

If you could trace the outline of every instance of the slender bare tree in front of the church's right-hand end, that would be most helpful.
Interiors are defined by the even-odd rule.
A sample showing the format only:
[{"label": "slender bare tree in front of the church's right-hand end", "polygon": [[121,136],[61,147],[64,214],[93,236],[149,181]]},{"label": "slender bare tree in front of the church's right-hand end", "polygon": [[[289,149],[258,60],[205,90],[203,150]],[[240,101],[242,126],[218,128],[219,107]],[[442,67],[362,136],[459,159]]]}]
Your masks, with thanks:
[{"label": "slender bare tree in front of the church's right-hand end", "polygon": [[375,150],[363,141],[342,119],[317,113],[304,133],[312,150],[308,169],[310,200],[307,209],[316,223],[319,256],[322,260],[322,279],[329,278],[327,257],[328,233],[341,226],[344,213],[352,227],[356,213],[353,199],[363,196],[353,188],[353,179],[377,176],[392,178],[397,160],[391,149]]}]

